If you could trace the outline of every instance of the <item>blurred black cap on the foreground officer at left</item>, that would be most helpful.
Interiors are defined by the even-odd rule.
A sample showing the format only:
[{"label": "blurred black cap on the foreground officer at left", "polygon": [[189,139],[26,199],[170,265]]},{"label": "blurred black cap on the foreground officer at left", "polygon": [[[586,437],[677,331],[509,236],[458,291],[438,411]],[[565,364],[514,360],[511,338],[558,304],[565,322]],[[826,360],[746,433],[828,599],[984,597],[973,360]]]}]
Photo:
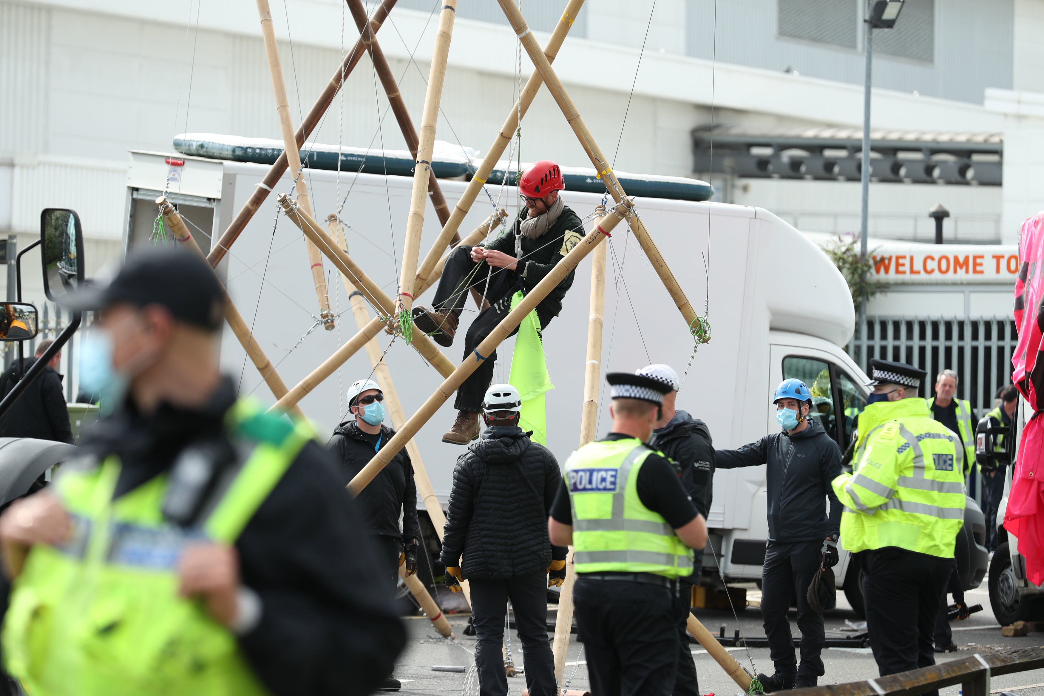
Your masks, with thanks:
[{"label": "blurred black cap on the foreground officer at left", "polygon": [[114,305],[160,305],[179,321],[201,329],[221,328],[224,288],[207,260],[180,247],[133,251],[108,284],[85,285],[60,302],[73,312]]}]

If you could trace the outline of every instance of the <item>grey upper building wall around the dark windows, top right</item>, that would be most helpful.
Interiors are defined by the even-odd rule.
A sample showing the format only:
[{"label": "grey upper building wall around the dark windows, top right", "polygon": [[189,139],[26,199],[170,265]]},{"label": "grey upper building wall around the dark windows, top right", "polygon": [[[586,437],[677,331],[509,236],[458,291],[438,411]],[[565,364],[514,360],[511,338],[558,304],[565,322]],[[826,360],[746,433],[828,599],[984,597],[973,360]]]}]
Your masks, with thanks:
[{"label": "grey upper building wall around the dark windows, top right", "polygon": [[[900,29],[895,34],[876,34],[874,87],[972,103],[982,103],[988,87],[1011,89],[1014,0],[908,2],[916,3],[910,4],[911,24],[904,29],[900,15]],[[716,9],[718,61],[861,85],[861,35],[855,49],[780,35],[781,7],[788,13],[784,18],[787,26],[800,26],[801,19],[794,13],[804,11],[810,23],[815,6],[828,3],[832,7],[850,5],[857,17],[861,16],[861,0],[688,0],[686,52],[711,58]],[[933,23],[930,53],[924,46],[928,39],[922,26],[929,15]],[[845,23],[837,26],[838,30],[850,30]],[[862,23],[856,22],[856,27],[861,34]],[[915,42],[918,45],[912,45]],[[852,45],[848,35],[831,43]],[[900,55],[889,55],[889,51]]]}]

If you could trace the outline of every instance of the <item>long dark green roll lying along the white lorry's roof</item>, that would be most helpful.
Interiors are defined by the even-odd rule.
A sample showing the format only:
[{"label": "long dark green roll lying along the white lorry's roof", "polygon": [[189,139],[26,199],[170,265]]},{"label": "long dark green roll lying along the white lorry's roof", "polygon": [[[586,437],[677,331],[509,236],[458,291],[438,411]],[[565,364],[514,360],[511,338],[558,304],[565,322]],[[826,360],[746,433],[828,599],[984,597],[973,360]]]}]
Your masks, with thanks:
[{"label": "long dark green roll lying along the white lorry's roof", "polygon": [[[174,138],[174,149],[210,160],[231,160],[271,165],[283,153],[283,143],[267,138],[239,138],[212,133],[186,133]],[[478,169],[479,152],[442,140],[435,141],[431,169],[438,178],[470,181]],[[319,143],[305,143],[301,150],[301,163],[313,169],[327,169],[345,173],[413,175],[413,158],[408,150],[381,150],[365,147],[340,147]],[[522,163],[525,171],[531,163]],[[714,187],[707,182],[684,176],[659,176],[656,174],[630,174],[615,171],[616,177],[628,195],[673,200],[708,200],[714,195]],[[606,187],[590,167],[562,167],[567,191],[604,193]],[[500,186],[506,176],[507,185],[514,186],[518,176],[518,163],[500,161],[490,172],[487,184]]]}]

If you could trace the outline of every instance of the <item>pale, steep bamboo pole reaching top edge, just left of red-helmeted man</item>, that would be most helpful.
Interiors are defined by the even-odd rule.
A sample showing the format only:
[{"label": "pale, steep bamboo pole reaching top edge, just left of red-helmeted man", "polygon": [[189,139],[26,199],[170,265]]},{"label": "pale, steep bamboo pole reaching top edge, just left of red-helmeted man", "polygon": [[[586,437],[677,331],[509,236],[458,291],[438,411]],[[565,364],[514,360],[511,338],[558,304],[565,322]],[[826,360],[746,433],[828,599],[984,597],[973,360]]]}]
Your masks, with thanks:
[{"label": "pale, steep bamboo pole reaching top edge, just left of red-helmeted man", "polygon": [[431,157],[435,146],[435,125],[438,122],[438,104],[443,99],[443,82],[446,79],[446,61],[450,54],[450,40],[453,38],[453,20],[456,17],[456,0],[442,0],[438,14],[438,32],[428,71],[428,89],[424,95],[424,111],[421,115],[420,141],[417,146],[417,165],[413,167],[413,192],[409,200],[409,217],[406,218],[406,242],[402,250],[402,270],[399,273],[398,306],[409,311],[416,294],[414,277],[417,260],[421,253],[421,233],[424,230],[424,209],[427,206],[428,181],[431,178]]}]

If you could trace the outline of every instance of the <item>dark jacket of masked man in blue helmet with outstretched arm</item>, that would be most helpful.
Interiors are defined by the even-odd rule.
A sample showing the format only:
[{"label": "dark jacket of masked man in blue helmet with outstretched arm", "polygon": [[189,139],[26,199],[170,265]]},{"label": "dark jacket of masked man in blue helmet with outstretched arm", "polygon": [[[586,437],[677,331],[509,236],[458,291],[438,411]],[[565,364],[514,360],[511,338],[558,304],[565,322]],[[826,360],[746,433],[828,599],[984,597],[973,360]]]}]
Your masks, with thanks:
[{"label": "dark jacket of masked man in blue helmet with outstretched arm", "polygon": [[715,452],[717,469],[759,464],[768,464],[765,488],[770,542],[812,542],[839,531],[841,504],[830,483],[841,475],[841,452],[818,421],[809,419],[808,428],[793,436],[778,432],[738,450]]}]

